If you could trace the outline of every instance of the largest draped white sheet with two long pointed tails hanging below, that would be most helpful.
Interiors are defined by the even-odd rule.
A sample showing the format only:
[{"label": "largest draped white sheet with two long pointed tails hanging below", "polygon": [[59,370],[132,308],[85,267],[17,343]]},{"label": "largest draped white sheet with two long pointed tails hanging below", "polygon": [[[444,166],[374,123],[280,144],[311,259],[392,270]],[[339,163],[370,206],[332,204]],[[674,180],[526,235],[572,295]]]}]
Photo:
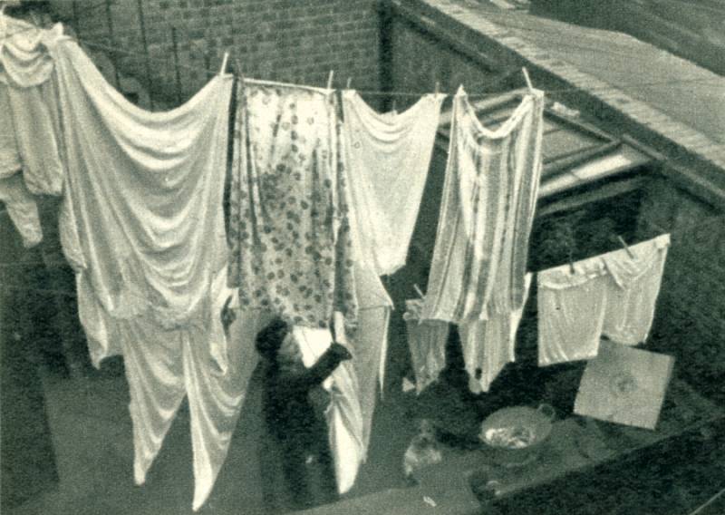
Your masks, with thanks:
[{"label": "largest draped white sheet with two long pointed tails hanging below", "polygon": [[[92,362],[124,357],[138,483],[189,396],[196,510],[224,462],[247,385],[238,374],[248,371],[227,361],[219,318],[231,293],[222,195],[232,77],[212,79],[175,110],[146,112],[77,44],[54,53]],[[239,345],[252,345],[247,336]]]}]

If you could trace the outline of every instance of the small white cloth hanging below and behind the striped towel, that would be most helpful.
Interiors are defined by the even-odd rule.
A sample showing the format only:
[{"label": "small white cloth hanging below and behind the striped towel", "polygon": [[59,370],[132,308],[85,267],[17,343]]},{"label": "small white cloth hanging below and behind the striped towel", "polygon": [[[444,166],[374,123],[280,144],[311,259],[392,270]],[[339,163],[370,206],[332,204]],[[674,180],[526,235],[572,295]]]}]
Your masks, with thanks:
[{"label": "small white cloth hanging below and behind the striped towel", "polygon": [[510,314],[489,316],[488,320],[459,325],[463,359],[472,393],[488,392],[504,366],[516,361],[516,334],[530,286],[531,274],[527,274],[524,304]]}]

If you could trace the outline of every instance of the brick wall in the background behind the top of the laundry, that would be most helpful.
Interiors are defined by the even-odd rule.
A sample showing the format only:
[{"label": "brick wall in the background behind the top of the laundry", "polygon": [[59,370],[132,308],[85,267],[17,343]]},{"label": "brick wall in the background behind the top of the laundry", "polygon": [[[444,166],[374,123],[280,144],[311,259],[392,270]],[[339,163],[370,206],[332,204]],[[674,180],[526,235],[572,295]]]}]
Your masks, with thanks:
[{"label": "brick wall in the background behind the top of the laundry", "polygon": [[[73,9],[73,4],[76,8]],[[110,44],[105,2],[52,1],[53,9],[82,40]],[[151,92],[177,98],[172,27],[176,28],[181,98],[206,82],[207,65],[217,72],[224,52],[238,59],[245,76],[324,85],[330,70],[335,84],[352,77],[353,87],[378,87],[376,0],[122,0],[112,2],[116,48],[122,72],[146,80],[140,11],[152,58]],[[128,53],[135,53],[129,55]]]}]

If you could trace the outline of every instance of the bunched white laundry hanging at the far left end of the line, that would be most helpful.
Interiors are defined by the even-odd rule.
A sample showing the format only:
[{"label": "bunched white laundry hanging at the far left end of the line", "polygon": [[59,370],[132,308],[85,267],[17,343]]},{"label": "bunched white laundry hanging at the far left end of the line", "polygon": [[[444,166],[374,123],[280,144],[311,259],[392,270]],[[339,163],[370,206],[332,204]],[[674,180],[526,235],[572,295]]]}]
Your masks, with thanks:
[{"label": "bunched white laundry hanging at the far left end of the line", "polygon": [[[25,247],[43,239],[35,196],[63,192],[52,53],[65,39],[61,24],[43,30],[0,15],[0,199]],[[65,200],[62,209],[68,209]]]}]

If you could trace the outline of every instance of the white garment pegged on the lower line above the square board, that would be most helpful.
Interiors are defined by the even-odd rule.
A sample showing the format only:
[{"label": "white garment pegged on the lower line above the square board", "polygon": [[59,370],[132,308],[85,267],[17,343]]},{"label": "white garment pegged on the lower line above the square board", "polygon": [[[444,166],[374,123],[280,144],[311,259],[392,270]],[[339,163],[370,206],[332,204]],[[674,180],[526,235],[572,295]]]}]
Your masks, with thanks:
[{"label": "white garment pegged on the lower line above the square board", "polygon": [[592,359],[602,335],[623,345],[646,340],[670,235],[539,272],[539,366]]}]

